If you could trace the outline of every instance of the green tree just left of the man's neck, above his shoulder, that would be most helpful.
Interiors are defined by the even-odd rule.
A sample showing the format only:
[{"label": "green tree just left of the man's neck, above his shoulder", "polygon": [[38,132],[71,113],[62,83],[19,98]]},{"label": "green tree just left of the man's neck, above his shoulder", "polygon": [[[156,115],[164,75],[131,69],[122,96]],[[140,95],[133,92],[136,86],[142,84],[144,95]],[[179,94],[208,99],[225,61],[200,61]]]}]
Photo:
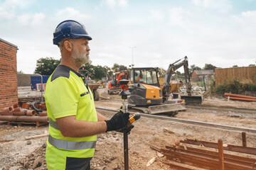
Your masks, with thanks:
[{"label": "green tree just left of the man's neck, above his shoulder", "polygon": [[36,74],[50,75],[55,68],[60,64],[60,60],[55,60],[52,57],[40,58],[36,61]]}]

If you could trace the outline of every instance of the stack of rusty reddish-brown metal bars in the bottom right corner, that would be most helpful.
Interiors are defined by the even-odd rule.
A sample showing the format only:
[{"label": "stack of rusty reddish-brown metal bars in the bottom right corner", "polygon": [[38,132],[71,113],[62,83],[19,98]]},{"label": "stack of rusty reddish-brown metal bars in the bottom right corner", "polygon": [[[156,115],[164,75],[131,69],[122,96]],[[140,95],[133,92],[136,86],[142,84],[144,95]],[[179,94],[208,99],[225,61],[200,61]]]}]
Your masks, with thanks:
[{"label": "stack of rusty reddish-brown metal bars in the bottom right corner", "polygon": [[[242,137],[244,141],[244,133]],[[178,146],[166,146],[165,149],[151,148],[164,154],[165,159],[162,158],[161,162],[178,169],[256,169],[256,148],[226,145],[222,140],[218,140],[218,143],[183,140],[180,143]]]}]

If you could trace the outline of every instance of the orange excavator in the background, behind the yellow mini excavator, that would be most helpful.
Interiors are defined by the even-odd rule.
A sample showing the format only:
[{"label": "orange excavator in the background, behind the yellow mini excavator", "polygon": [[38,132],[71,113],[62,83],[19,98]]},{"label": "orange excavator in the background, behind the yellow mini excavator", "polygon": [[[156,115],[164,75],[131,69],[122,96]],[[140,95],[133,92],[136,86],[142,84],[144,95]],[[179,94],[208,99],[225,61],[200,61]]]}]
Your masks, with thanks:
[{"label": "orange excavator in the background, behind the yellow mini excavator", "polygon": [[109,82],[107,93],[112,95],[114,92],[122,91],[119,81],[122,79],[128,79],[129,70],[122,70],[120,72],[114,72],[112,81]]}]

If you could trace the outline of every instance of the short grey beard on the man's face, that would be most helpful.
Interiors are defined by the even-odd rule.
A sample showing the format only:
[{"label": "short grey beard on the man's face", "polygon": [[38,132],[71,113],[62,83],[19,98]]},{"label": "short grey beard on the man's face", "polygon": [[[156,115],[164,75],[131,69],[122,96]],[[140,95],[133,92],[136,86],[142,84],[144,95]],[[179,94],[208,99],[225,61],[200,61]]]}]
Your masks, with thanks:
[{"label": "short grey beard on the man's face", "polygon": [[78,50],[77,47],[75,47],[75,45],[73,46],[73,53],[71,55],[71,57],[73,58],[73,60],[75,61],[76,65],[82,65],[82,64],[86,64],[90,61],[90,57],[88,52],[85,52],[82,54],[82,52],[80,52]]}]

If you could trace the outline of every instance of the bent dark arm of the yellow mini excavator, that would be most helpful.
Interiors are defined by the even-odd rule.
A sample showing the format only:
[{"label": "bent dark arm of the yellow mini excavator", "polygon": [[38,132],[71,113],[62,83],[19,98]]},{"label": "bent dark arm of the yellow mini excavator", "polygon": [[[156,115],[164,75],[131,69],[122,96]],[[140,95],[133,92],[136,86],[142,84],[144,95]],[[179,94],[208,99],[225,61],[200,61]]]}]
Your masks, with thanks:
[{"label": "bent dark arm of the yellow mini excavator", "polygon": [[184,67],[186,91],[188,96],[191,96],[191,81],[190,81],[190,76],[188,72],[188,57],[185,56],[183,59],[177,60],[176,62],[170,64],[169,68],[167,69],[167,72],[164,78],[163,89],[162,89],[163,101],[167,101],[169,98],[172,74],[174,74],[174,72],[182,66]]}]

